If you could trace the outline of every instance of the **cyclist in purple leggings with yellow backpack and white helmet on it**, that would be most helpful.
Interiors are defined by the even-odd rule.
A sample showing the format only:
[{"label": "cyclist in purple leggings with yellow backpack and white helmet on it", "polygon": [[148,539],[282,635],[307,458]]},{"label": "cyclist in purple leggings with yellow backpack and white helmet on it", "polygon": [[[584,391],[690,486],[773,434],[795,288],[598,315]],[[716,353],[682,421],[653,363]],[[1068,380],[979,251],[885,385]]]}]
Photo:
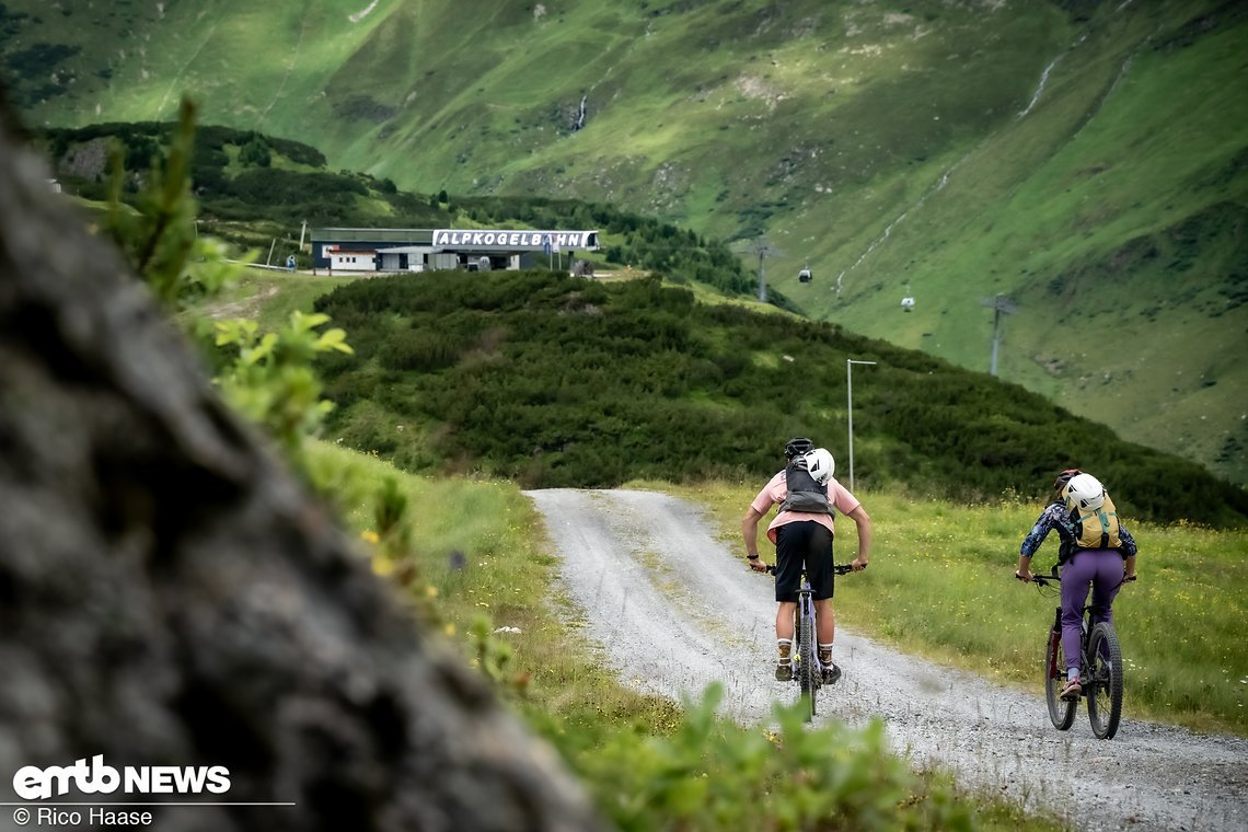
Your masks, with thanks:
[{"label": "cyclist in purple leggings with yellow backpack and white helmet on it", "polygon": [[1104,486],[1091,474],[1085,474],[1077,468],[1058,474],[1053,480],[1057,500],[1045,508],[1031,533],[1023,539],[1018,553],[1018,571],[1015,576],[1021,581],[1032,579],[1031,558],[1040,550],[1048,533],[1056,529],[1062,540],[1058,563],[1062,565],[1062,655],[1066,656],[1067,680],[1061,697],[1072,700],[1083,692],[1080,680],[1080,642],[1083,631],[1083,602],[1088,596],[1088,586],[1092,588],[1092,604],[1104,607],[1103,614],[1093,614],[1092,624],[1113,621],[1111,607],[1118,589],[1124,581],[1136,580],[1136,540],[1126,526],[1119,524],[1121,549],[1081,546],[1075,521],[1066,508],[1063,491],[1067,489],[1072,498],[1094,503],[1093,508],[1099,506],[1097,499],[1104,499]]}]

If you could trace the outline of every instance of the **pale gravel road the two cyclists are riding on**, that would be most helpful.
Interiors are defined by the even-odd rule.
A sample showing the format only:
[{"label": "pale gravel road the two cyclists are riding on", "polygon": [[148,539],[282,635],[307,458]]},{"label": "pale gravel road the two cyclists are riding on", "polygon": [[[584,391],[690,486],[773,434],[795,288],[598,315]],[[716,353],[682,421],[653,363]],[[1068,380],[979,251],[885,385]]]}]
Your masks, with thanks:
[{"label": "pale gravel road the two cyclists are riding on", "polygon": [[[743,723],[770,722],[771,704],[796,696],[771,679],[771,578],[746,569],[740,545],[716,540],[698,506],[648,491],[527,494],[590,637],[625,685],[679,699],[720,680],[724,713]],[[887,558],[886,546],[876,556]],[[854,580],[839,579],[837,591],[855,591]],[[829,712],[850,725],[882,718],[916,765],[938,763],[958,782],[1053,810],[1080,830],[1248,830],[1248,741],[1126,717],[1101,741],[1082,705],[1061,732],[1038,680],[1035,691],[1002,687],[895,652],[847,624],[835,652],[845,676],[821,691],[816,722]]]}]

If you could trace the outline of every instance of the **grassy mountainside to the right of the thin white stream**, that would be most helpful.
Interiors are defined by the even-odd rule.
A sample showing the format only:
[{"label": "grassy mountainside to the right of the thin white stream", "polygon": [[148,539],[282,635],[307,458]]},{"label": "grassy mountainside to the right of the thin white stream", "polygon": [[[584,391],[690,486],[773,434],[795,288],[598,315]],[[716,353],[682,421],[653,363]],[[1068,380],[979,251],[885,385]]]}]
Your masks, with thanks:
[{"label": "grassy mountainside to the right of the thin white stream", "polygon": [[[1229,56],[1243,35],[1243,26],[1214,31],[1202,50],[1122,50],[1126,71],[1128,59],[1102,54],[1106,94],[1086,110],[1061,109],[1072,97],[1061,96],[1071,80],[1058,64],[1053,104],[1027,120],[1065,121],[1046,132],[1072,138],[1033,148],[1028,166],[1016,157],[1023,123],[981,145],[887,246],[850,269],[846,293],[857,301],[832,304],[829,317],[986,369],[992,313],[978,303],[1005,292],[1020,304],[1005,324],[1005,378],[1144,444],[1207,462],[1242,447],[1248,370],[1232,357],[1246,346],[1248,309],[1227,308],[1233,276],[1243,281],[1243,220],[1226,202],[1243,191],[1226,160],[1248,119]],[[1179,111],[1154,106],[1158,95],[1182,102]],[[1176,119],[1188,126],[1181,136]],[[1237,231],[1218,227],[1228,212]],[[1177,251],[1193,236],[1199,258]],[[1139,256],[1141,237],[1156,256]],[[899,308],[902,294],[917,298],[914,313]],[[1214,468],[1232,473],[1243,462],[1239,450]]]}]

